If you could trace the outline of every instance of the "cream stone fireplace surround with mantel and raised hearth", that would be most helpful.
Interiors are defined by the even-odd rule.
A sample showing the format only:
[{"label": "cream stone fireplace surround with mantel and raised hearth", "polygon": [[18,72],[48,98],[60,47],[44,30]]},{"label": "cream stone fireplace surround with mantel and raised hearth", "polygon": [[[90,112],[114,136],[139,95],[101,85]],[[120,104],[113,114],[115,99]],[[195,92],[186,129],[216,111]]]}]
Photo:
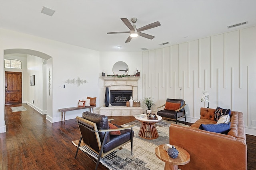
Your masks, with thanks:
[{"label": "cream stone fireplace surround with mantel and raised hearth", "polygon": [[[108,90],[132,90],[132,97],[134,100],[138,99],[138,80],[140,77],[102,77],[104,80],[104,87]],[[142,114],[142,107],[127,107],[127,106],[111,106],[100,107],[100,115],[106,116],[130,116]]]}]

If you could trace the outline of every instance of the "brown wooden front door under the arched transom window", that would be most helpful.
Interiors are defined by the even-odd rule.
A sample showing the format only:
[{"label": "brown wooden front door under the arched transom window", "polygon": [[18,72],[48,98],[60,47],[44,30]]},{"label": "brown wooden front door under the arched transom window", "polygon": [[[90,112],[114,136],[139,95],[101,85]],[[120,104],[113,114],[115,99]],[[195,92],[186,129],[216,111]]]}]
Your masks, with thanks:
[{"label": "brown wooden front door under the arched transom window", "polygon": [[21,72],[5,72],[5,104],[21,103]]}]

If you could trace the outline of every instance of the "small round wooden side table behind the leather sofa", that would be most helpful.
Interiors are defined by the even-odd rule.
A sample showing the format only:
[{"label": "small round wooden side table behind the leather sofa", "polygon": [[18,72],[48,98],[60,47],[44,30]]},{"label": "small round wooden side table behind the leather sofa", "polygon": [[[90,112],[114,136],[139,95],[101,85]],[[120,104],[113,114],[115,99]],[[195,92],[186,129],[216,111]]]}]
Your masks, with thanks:
[{"label": "small round wooden side table behind the leather sofa", "polygon": [[178,170],[178,165],[185,165],[190,161],[190,154],[183,148],[176,147],[179,151],[177,158],[171,158],[167,151],[163,149],[164,145],[159,145],[155,149],[156,156],[165,162],[164,170]]}]

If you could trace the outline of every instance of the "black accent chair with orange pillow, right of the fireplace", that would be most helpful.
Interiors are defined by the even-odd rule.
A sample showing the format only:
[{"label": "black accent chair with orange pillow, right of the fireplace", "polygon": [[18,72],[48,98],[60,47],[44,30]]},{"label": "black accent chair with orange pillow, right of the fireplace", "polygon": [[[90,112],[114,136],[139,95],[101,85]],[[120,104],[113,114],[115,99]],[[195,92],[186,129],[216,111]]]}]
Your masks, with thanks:
[{"label": "black accent chair with orange pillow, right of the fireplace", "polygon": [[165,117],[167,119],[175,120],[176,124],[178,123],[178,118],[180,117],[185,117],[185,122],[186,121],[186,112],[185,112],[185,101],[182,99],[166,99],[166,102],[171,102],[171,103],[180,103],[180,108],[176,110],[159,110],[161,107],[164,107],[166,104],[156,107],[157,108],[157,115],[160,115],[161,117]]}]

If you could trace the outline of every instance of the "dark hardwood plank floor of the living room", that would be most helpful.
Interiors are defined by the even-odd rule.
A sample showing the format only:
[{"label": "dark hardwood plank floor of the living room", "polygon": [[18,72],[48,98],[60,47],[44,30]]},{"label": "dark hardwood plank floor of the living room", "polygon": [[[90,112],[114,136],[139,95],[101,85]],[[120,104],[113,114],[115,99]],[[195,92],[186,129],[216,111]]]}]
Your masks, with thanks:
[{"label": "dark hardwood plank floor of the living room", "polygon": [[[12,113],[10,107],[25,106],[29,111]],[[81,114],[82,115],[82,114]],[[115,116],[112,123],[122,125],[133,116]],[[5,106],[6,133],[0,134],[0,170],[92,170],[95,163],[81,151],[74,159],[72,141],[80,138],[76,119],[50,123],[26,104]],[[256,136],[246,135],[248,170],[256,170]],[[228,158],[227,158],[228,159]],[[238,158],[239,160],[239,158]],[[107,170],[100,164],[99,170]]]}]

